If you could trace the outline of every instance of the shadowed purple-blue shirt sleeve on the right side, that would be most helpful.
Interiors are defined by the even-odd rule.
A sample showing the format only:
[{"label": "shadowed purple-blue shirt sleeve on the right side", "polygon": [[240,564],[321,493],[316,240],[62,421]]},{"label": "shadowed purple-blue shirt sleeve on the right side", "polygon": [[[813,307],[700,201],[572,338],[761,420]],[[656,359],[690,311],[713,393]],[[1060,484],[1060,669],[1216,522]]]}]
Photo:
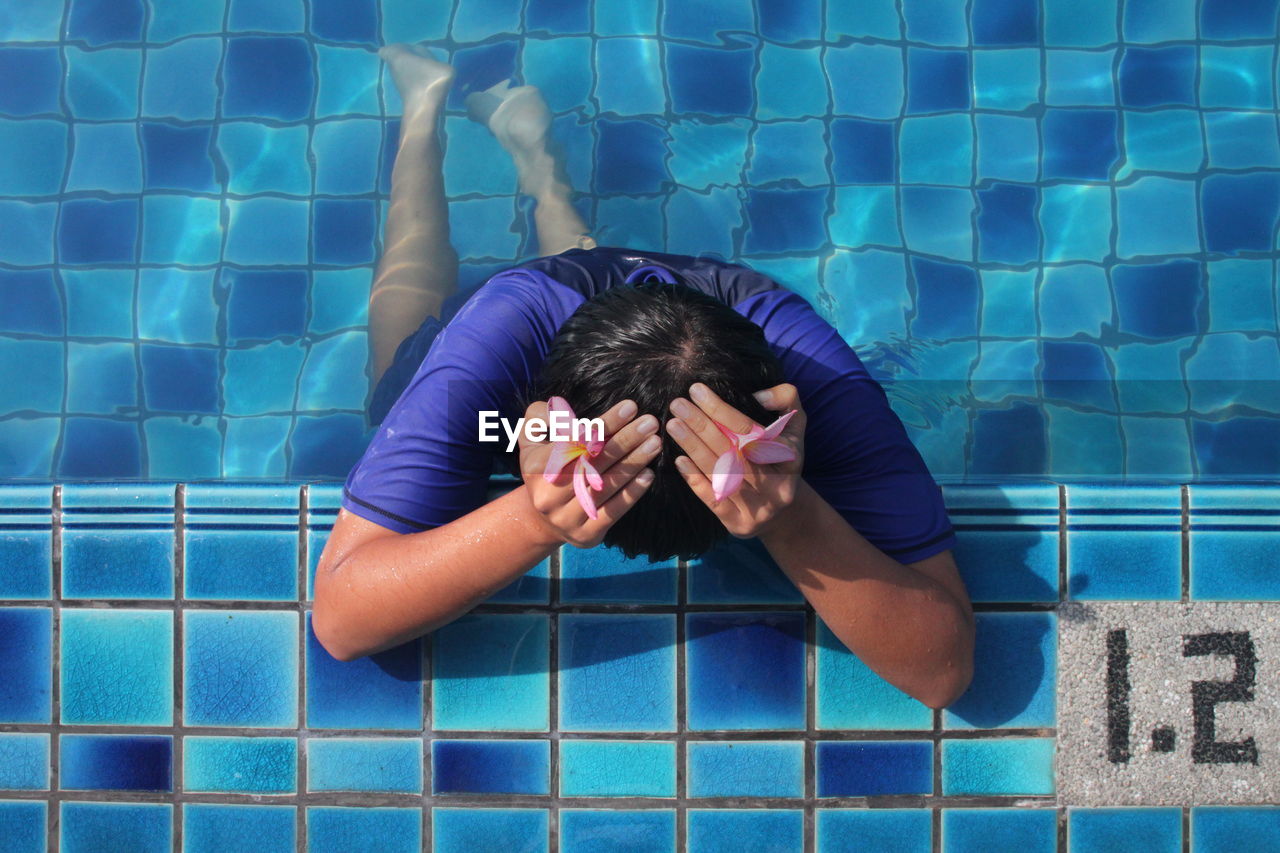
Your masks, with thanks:
[{"label": "shadowed purple-blue shirt sleeve on the right side", "polygon": [[942,489],[884,389],[799,295],[773,291],[735,306],[764,329],[808,416],[801,475],[868,542],[909,564],[954,548]]}]

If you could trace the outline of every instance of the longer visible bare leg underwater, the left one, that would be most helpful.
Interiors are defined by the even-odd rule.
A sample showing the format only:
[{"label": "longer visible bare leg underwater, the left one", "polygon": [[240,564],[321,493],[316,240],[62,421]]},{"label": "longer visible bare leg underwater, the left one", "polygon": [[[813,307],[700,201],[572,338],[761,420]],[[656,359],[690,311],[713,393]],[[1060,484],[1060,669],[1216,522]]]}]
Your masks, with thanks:
[{"label": "longer visible bare leg underwater, the left one", "polygon": [[436,129],[453,68],[419,45],[388,45],[387,60],[404,102],[392,169],[383,256],[369,292],[369,342],[376,384],[396,348],[428,316],[439,316],[458,287],[458,255],[449,245],[443,154]]}]

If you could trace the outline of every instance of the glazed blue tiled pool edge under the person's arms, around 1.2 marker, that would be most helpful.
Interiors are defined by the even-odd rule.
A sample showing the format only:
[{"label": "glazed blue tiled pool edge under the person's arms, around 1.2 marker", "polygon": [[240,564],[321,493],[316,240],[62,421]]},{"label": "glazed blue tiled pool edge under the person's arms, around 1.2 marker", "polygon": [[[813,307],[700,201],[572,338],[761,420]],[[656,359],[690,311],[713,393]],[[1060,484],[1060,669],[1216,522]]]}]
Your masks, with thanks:
[{"label": "glazed blue tiled pool edge under the person's arms, around 1.2 marker", "polygon": [[946,487],[978,646],[934,711],[754,540],[568,548],[340,662],[337,485],[0,487],[0,850],[1275,849],[1275,804],[1062,806],[1055,679],[1062,602],[1280,601],[1276,491]]}]

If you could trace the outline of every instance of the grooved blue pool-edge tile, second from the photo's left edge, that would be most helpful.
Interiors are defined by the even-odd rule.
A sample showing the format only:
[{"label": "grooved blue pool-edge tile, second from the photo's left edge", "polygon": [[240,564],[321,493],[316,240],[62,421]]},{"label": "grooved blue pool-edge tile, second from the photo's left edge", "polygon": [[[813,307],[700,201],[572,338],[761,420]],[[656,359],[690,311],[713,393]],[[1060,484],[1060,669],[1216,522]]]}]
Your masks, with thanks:
[{"label": "grooved blue pool-edge tile, second from the photo's left edge", "polygon": [[173,598],[174,487],[63,488],[63,598]]}]

